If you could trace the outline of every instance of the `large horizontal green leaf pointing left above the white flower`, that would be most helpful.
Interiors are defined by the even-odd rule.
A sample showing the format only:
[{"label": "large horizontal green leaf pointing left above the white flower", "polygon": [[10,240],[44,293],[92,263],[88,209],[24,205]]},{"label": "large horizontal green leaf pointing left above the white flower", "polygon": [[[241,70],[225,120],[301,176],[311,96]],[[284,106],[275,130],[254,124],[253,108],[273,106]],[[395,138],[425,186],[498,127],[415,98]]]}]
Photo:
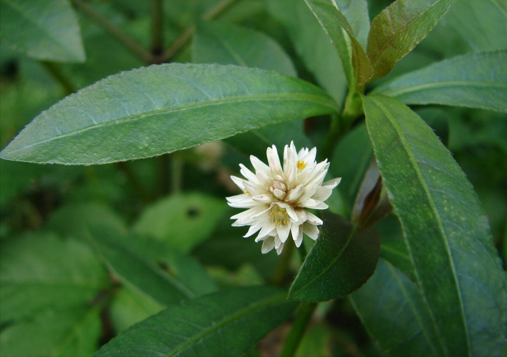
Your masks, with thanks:
[{"label": "large horizontal green leaf pointing left above the white flower", "polygon": [[125,161],[336,110],[316,86],[275,72],[155,65],[68,96],[28,124],[0,157],[62,164]]}]

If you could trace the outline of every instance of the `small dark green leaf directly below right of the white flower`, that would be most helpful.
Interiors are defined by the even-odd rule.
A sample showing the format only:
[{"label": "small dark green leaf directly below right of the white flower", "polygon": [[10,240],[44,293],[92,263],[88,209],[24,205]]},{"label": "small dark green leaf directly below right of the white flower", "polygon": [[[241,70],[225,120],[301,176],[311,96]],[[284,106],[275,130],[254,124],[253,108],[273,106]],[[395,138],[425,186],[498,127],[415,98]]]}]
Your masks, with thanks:
[{"label": "small dark green leaf directly below right of the white flower", "polygon": [[[289,290],[289,298],[326,301],[357,290],[375,271],[380,238],[332,213],[323,214],[319,238]],[[332,282],[332,283],[331,283]]]}]

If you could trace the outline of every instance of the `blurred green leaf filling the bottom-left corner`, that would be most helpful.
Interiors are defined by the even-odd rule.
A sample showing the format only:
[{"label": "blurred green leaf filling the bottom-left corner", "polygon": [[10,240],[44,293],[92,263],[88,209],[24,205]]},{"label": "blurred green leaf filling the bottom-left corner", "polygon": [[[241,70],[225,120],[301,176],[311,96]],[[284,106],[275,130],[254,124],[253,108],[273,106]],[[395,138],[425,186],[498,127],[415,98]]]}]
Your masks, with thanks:
[{"label": "blurred green leaf filling the bottom-left corner", "polygon": [[89,356],[102,333],[96,307],[46,309],[0,333],[4,356]]}]

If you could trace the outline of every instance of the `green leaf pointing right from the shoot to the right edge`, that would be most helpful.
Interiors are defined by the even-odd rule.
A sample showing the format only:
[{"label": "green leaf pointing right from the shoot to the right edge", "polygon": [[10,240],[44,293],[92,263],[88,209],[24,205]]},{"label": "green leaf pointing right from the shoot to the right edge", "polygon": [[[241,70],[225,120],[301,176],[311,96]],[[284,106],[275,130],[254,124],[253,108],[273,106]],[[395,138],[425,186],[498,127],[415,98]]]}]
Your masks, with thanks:
[{"label": "green leaf pointing right from the shoot to the right edge", "polygon": [[405,104],[443,104],[507,113],[507,50],[471,53],[404,74],[374,93]]}]

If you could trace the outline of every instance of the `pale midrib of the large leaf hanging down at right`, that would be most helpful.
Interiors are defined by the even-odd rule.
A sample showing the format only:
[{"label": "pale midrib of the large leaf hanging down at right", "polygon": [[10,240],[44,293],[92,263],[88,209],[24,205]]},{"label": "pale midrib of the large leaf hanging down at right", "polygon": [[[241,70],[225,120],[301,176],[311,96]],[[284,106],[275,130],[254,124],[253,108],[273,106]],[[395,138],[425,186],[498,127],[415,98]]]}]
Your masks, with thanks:
[{"label": "pale midrib of the large leaf hanging down at right", "polygon": [[[396,131],[396,133],[397,133],[397,135],[398,135],[398,137],[400,139],[400,142],[402,144],[402,147],[404,148],[405,152],[407,153],[407,156],[409,157],[410,163],[412,164],[412,167],[414,168],[414,170],[415,170],[415,172],[417,174],[417,177],[419,178],[419,183],[421,184],[422,188],[424,189],[424,192],[426,194],[425,196],[428,199],[428,203],[430,205],[431,212],[433,213],[434,217],[436,218],[437,226],[439,228],[441,236],[444,238],[444,243],[445,243],[445,247],[446,247],[446,253],[447,253],[448,257],[449,257],[448,261],[449,261],[449,265],[451,267],[451,271],[453,273],[452,276],[453,276],[453,280],[454,280],[454,283],[455,283],[456,292],[457,292],[458,300],[459,300],[459,306],[460,306],[459,311],[460,311],[461,320],[463,322],[463,327],[464,327],[464,332],[465,332],[465,337],[466,337],[466,344],[467,344],[467,346],[466,346],[467,348],[466,349],[469,350],[469,348],[470,348],[470,341],[469,341],[469,336],[468,336],[468,328],[467,328],[467,324],[466,324],[466,319],[464,317],[464,306],[463,306],[463,299],[462,299],[462,296],[461,296],[461,289],[459,288],[459,282],[457,280],[456,270],[454,268],[454,260],[452,258],[452,254],[451,254],[451,251],[450,251],[449,242],[447,240],[447,236],[446,236],[445,231],[444,231],[442,220],[440,219],[440,215],[438,214],[437,207],[434,204],[434,201],[433,201],[433,198],[432,198],[431,193],[429,191],[429,188],[427,187],[426,182],[424,181],[424,176],[423,176],[423,174],[422,174],[422,172],[421,172],[421,170],[419,168],[419,165],[417,164],[417,159],[415,158],[414,154],[412,153],[412,149],[411,149],[410,145],[408,144],[405,136],[403,135],[402,129],[396,123],[396,120],[392,117],[392,115],[387,110],[387,108],[385,108],[382,105],[382,103],[378,102],[375,98],[372,98],[372,97],[369,97],[369,99],[372,102],[374,102],[375,105],[377,105],[377,107],[384,113],[384,115],[388,119],[389,123],[392,125],[392,127]],[[411,260],[413,262],[414,260],[413,260],[413,256],[412,256],[412,251],[410,249],[410,245],[408,245],[408,244],[407,244],[407,249],[409,251]],[[419,273],[418,273],[417,265],[413,264],[413,266],[414,266],[414,273],[415,273],[416,279],[418,281],[417,283],[418,283],[419,287],[421,288],[421,290],[424,290],[424,287],[421,284],[421,280],[420,280],[420,276],[419,276]],[[427,304],[426,295],[423,294],[423,297],[424,297],[424,301]],[[429,307],[429,305],[428,305],[428,307]],[[432,320],[434,322],[435,320],[434,320],[433,310],[431,308],[428,308],[428,310],[429,310],[431,318],[432,318]],[[439,327],[438,327],[438,325],[435,324],[435,327],[437,328],[437,332],[438,332],[440,330]],[[444,348],[444,350],[445,350],[445,348]]]}]

